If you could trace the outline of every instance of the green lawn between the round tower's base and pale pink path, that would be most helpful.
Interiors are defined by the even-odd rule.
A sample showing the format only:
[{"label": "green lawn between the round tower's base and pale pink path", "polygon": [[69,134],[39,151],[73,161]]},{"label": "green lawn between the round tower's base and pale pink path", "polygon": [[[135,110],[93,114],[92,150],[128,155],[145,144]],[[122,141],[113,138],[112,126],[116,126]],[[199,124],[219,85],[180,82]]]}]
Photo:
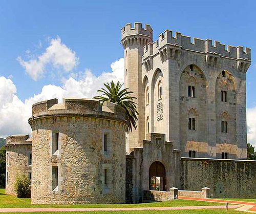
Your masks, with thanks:
[{"label": "green lawn between the round tower's base and pale pink path", "polygon": [[163,206],[209,206],[223,205],[223,203],[171,200],[142,204],[31,204],[31,199],[16,198],[5,195],[5,189],[0,189],[0,207],[70,207],[70,208],[104,208],[104,207],[163,207]]}]

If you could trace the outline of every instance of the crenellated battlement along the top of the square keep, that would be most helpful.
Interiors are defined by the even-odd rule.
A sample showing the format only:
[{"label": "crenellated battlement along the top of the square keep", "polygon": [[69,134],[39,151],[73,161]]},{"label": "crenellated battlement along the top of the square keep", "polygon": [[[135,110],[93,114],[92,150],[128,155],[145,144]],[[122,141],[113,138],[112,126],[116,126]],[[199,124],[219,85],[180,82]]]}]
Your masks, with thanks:
[{"label": "crenellated battlement along the top of the square keep", "polygon": [[231,59],[251,59],[250,48],[245,48],[244,50],[242,46],[234,47],[227,45],[226,47],[226,45],[221,44],[219,41],[214,41],[214,45],[212,45],[211,39],[193,38],[191,41],[190,36],[182,35],[180,32],[175,32],[173,36],[173,31],[171,30],[165,30],[164,33],[158,36],[158,40],[147,44],[143,48],[143,59],[150,55],[155,55],[166,45],[183,50],[216,54]]}]

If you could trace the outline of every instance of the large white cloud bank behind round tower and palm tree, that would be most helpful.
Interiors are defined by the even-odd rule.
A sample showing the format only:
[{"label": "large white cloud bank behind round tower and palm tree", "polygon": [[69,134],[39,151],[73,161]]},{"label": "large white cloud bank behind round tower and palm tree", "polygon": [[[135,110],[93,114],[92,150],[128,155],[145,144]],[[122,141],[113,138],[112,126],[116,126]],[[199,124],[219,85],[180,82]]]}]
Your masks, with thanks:
[{"label": "large white cloud bank behind round tower and palm tree", "polygon": [[4,76],[0,77],[0,137],[13,134],[30,134],[28,118],[32,114],[31,105],[42,100],[62,97],[92,98],[103,83],[124,81],[124,59],[111,63],[112,72],[103,72],[95,76],[90,70],[79,72],[78,75],[63,79],[62,85],[45,85],[39,94],[33,95],[24,102],[16,95],[13,81]]}]

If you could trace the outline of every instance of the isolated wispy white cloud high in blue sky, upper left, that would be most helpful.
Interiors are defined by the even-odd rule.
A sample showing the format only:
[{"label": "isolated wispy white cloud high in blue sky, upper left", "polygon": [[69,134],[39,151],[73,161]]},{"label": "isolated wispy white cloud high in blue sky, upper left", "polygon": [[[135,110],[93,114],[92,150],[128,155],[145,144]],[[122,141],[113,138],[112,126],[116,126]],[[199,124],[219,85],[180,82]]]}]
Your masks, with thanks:
[{"label": "isolated wispy white cloud high in blue sky, upper left", "polygon": [[51,39],[50,46],[37,58],[25,61],[19,56],[17,60],[20,65],[25,68],[26,73],[36,81],[44,76],[47,66],[53,69],[63,69],[65,72],[70,72],[78,64],[79,58],[76,57],[74,51],[63,44],[60,38],[57,37]]}]

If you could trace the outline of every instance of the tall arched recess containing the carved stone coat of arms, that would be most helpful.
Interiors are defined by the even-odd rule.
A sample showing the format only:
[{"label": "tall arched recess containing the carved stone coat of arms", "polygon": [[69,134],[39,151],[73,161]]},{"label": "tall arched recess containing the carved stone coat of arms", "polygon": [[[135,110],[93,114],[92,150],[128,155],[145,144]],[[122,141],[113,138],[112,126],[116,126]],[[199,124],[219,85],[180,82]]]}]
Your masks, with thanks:
[{"label": "tall arched recess containing the carved stone coat of arms", "polygon": [[164,105],[162,99],[167,98],[164,90],[164,77],[160,69],[156,69],[151,83],[151,123],[152,132],[164,133]]}]

